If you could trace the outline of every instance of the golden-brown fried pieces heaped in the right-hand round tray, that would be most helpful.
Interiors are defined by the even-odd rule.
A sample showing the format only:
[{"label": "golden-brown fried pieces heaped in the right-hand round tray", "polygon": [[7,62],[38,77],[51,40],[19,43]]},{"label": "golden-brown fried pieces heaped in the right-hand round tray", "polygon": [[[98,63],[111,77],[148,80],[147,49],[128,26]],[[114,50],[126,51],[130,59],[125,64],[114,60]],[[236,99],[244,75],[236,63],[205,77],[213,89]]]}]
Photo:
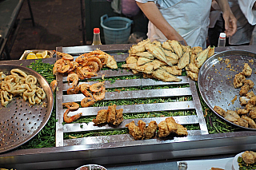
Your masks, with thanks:
[{"label": "golden-brown fried pieces heaped in the right-hand round tray", "polygon": [[241,87],[239,92],[239,101],[241,106],[245,106],[244,109],[238,109],[236,111],[225,111],[219,106],[214,106],[214,111],[224,117],[227,121],[231,121],[236,125],[240,125],[246,128],[256,128],[254,119],[256,118],[256,96],[253,91],[250,91],[254,87],[254,82],[246,79],[252,73],[250,65],[245,63],[241,73],[238,73],[234,77],[234,88]]}]

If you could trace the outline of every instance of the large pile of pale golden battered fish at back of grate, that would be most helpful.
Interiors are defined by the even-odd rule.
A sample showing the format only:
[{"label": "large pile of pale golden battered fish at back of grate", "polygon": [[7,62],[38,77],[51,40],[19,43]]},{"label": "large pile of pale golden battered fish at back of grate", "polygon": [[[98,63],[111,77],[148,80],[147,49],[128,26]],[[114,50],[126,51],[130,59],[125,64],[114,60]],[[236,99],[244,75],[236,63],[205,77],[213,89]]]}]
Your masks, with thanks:
[{"label": "large pile of pale golden battered fish at back of grate", "polygon": [[213,54],[214,49],[210,46],[202,50],[202,47],[191,48],[175,40],[161,43],[146,39],[131,46],[122,67],[133,73],[141,72],[145,78],[154,77],[161,81],[182,81],[177,76],[186,69],[187,75],[197,81],[199,68]]}]

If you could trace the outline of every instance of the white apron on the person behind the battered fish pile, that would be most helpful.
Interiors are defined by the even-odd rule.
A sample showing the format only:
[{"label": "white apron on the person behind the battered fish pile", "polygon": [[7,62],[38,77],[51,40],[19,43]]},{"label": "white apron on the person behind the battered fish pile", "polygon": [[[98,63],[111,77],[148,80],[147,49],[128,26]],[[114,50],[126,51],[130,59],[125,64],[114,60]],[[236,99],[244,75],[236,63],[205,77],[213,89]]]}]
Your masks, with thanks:
[{"label": "white apron on the person behind the battered fish pile", "polygon": [[[188,45],[206,47],[210,6],[211,0],[181,0],[174,6],[159,10]],[[149,22],[148,37],[160,42],[167,40],[152,22]]]}]

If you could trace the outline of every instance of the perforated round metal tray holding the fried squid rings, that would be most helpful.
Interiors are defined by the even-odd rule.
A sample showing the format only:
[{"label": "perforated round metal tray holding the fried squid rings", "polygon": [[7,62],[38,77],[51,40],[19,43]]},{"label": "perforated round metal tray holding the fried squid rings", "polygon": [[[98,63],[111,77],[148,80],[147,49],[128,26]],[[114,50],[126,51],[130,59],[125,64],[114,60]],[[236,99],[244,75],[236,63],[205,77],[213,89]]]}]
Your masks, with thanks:
[{"label": "perforated round metal tray holding the fried squid rings", "polygon": [[21,69],[36,77],[38,85],[46,92],[46,98],[41,105],[30,105],[22,97],[14,97],[6,107],[0,105],[0,152],[17,148],[37,135],[49,120],[54,106],[52,90],[42,75],[22,65],[0,65],[0,72],[6,75],[11,69]]}]

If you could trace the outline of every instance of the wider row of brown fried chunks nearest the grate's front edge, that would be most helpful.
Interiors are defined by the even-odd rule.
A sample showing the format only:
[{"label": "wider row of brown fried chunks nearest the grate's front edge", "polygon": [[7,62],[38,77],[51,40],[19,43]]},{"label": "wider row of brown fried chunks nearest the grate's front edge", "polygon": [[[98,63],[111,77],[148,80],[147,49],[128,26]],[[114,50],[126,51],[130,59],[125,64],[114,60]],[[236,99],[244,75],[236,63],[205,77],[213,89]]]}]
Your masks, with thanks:
[{"label": "wider row of brown fried chunks nearest the grate's front edge", "polygon": [[167,117],[165,121],[161,121],[159,124],[156,121],[150,121],[147,127],[144,121],[138,121],[138,126],[134,124],[134,121],[131,121],[126,127],[128,127],[134,140],[151,139],[156,135],[157,129],[159,137],[166,137],[171,133],[178,136],[188,135],[187,129],[176,123],[173,117]]}]

